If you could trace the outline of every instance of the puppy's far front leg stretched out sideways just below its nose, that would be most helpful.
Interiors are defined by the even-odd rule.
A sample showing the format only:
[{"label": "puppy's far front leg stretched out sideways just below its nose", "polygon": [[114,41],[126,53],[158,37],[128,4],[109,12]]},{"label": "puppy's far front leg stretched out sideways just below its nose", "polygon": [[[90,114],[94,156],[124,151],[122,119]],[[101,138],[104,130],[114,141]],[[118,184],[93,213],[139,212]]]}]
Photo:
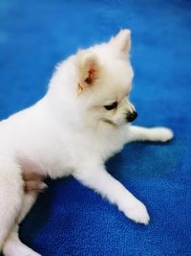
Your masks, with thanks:
[{"label": "puppy's far front leg stretched out sideways just below its nose", "polygon": [[173,138],[173,131],[170,128],[141,128],[129,126],[126,142],[132,141],[159,141],[166,142]]}]

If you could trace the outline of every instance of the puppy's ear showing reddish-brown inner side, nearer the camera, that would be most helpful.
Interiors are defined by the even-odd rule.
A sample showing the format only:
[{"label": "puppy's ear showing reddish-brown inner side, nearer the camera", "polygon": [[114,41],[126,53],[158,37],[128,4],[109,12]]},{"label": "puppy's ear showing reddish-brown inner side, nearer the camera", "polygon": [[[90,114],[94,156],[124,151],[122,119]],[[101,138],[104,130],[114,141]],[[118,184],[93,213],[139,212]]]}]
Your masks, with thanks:
[{"label": "puppy's ear showing reddish-brown inner side, nearer the camera", "polygon": [[91,87],[99,75],[99,63],[91,51],[80,51],[77,56],[78,90]]}]

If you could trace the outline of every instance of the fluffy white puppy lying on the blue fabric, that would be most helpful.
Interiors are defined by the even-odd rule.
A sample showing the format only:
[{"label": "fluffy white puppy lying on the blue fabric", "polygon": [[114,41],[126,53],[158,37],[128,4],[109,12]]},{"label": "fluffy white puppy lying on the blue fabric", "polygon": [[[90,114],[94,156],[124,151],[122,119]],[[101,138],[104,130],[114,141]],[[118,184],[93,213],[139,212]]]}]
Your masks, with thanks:
[{"label": "fluffy white puppy lying on the blue fabric", "polygon": [[122,30],[79,51],[57,66],[42,100],[0,123],[0,250],[6,256],[39,255],[20,242],[18,224],[44,187],[42,176],[74,175],[129,219],[149,222],[144,204],[104,167],[125,143],[173,137],[168,128],[130,125],[137,117],[128,99],[130,45],[130,31]]}]

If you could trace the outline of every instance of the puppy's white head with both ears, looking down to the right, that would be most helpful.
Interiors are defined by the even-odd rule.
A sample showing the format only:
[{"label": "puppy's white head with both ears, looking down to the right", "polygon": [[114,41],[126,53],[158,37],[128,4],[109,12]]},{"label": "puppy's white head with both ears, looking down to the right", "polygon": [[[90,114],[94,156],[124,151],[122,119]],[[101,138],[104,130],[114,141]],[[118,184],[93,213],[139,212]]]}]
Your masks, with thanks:
[{"label": "puppy's white head with both ears, looking down to the right", "polygon": [[134,76],[130,47],[131,33],[122,30],[108,43],[77,53],[77,101],[90,122],[121,126],[137,118],[129,101]]}]

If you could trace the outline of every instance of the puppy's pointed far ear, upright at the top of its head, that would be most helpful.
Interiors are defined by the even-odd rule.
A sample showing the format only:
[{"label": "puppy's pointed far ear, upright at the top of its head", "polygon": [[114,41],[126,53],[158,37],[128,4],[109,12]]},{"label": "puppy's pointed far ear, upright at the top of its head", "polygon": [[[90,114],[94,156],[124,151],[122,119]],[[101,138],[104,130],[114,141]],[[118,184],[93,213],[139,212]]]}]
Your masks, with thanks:
[{"label": "puppy's pointed far ear, upright at the top of its head", "polygon": [[131,48],[131,31],[121,30],[109,44],[114,48],[119,58],[127,58]]}]

